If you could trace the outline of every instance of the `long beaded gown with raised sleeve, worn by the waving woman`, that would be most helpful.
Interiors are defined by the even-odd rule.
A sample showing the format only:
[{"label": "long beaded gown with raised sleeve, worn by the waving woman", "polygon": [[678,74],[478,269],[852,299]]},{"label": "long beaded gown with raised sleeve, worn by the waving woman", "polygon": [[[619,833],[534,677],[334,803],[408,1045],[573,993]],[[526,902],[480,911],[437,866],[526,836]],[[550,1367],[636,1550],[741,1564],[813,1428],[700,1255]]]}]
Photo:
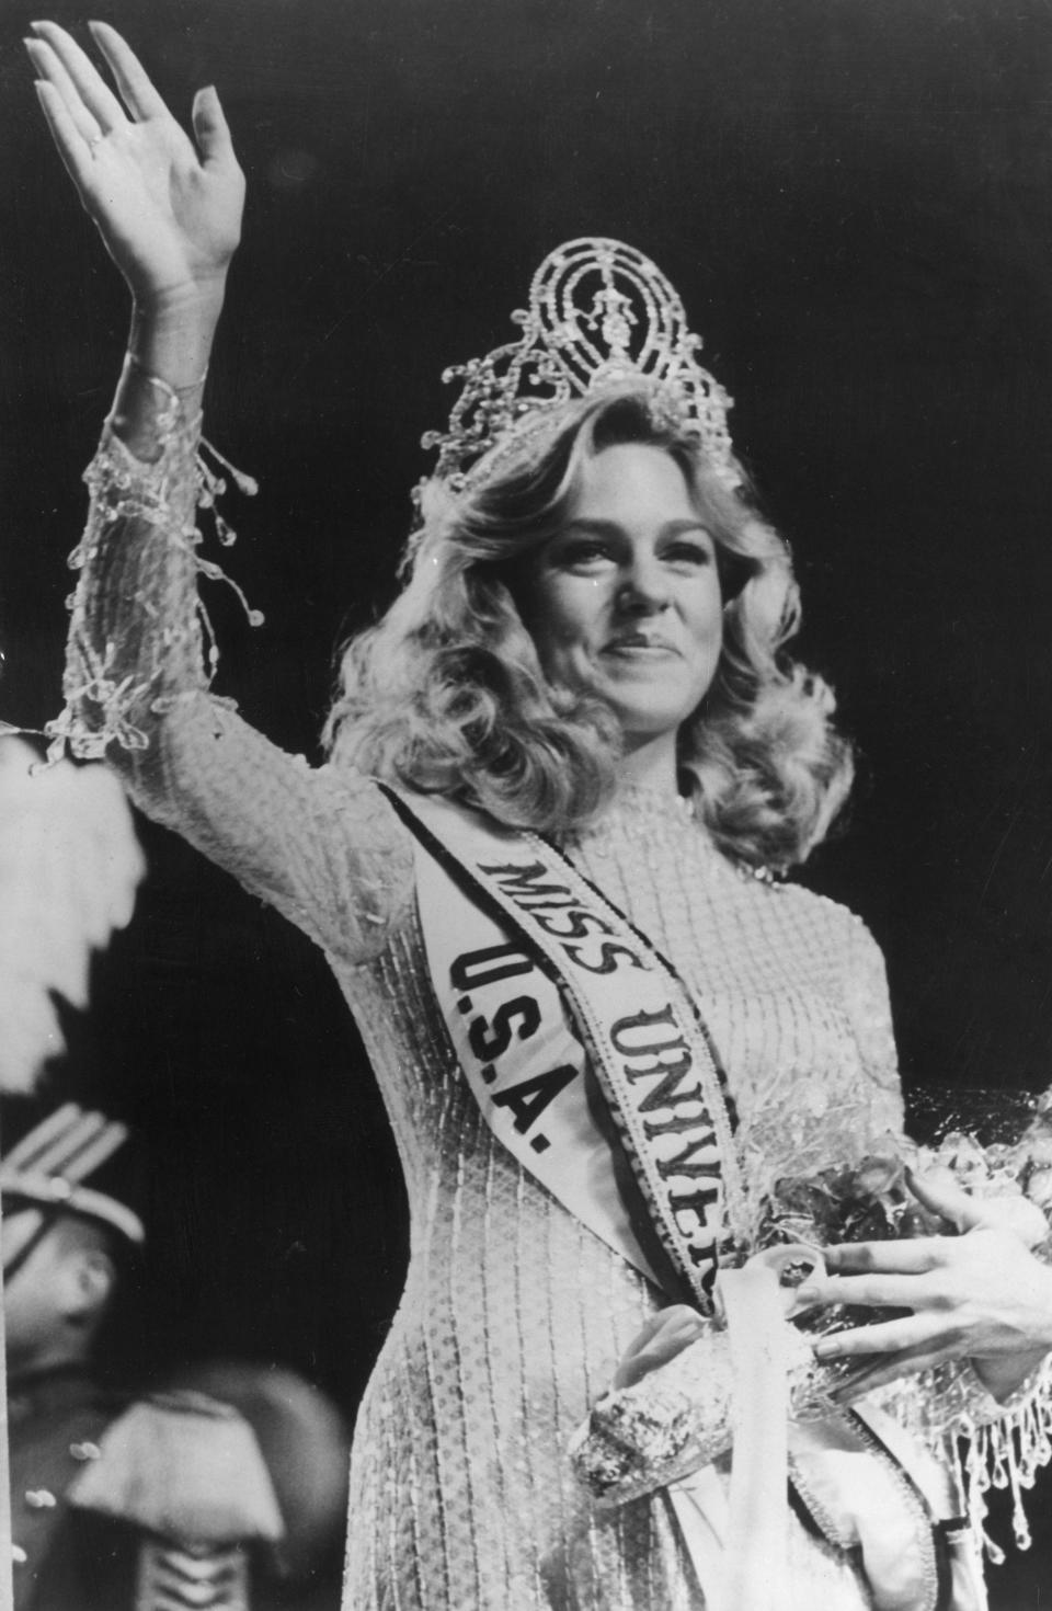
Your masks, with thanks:
[{"label": "long beaded gown with raised sleeve, worn by the waving woman", "polygon": [[[201,670],[193,446],[103,443],[74,564],[81,754],[325,952],[401,1153],[411,1261],[358,1414],[345,1611],[701,1611],[662,1493],[594,1510],[565,1458],[667,1298],[491,1136],[432,991],[406,828],[377,788],[275,749]],[[114,743],[116,736],[116,743]],[[677,963],[728,1075],[748,1166],[802,1171],[901,1126],[883,963],[862,923],[741,876],[678,801],[630,794],[567,847]],[[794,1605],[859,1611],[791,1519]]]}]

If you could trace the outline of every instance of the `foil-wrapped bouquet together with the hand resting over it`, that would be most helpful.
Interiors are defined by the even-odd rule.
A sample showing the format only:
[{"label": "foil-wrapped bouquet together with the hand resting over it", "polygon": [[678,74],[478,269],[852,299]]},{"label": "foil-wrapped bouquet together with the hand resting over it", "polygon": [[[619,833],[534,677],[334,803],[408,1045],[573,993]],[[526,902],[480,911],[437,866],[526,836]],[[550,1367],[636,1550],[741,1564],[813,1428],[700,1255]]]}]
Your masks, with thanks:
[{"label": "foil-wrapped bouquet together with the hand resting over it", "polygon": [[[934,1147],[888,1136],[857,1163],[773,1181],[749,1257],[785,1287],[793,1418],[820,1419],[960,1360],[997,1398],[1010,1395],[1052,1348],[1046,1211],[1052,1100],[1012,1144],[983,1145],[965,1131]],[[719,1315],[659,1310],[574,1440],[578,1477],[599,1503],[622,1503],[727,1453],[731,1381]],[[960,1403],[941,1402],[952,1381],[951,1371],[905,1392],[936,1432],[957,1429]]]}]

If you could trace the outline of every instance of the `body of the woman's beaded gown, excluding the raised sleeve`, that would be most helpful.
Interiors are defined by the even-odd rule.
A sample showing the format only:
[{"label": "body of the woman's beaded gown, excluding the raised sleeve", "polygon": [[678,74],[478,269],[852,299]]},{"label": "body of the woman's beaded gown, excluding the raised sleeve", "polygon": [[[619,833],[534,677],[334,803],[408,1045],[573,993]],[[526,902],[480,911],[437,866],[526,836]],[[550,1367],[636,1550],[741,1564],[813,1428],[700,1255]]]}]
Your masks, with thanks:
[{"label": "body of the woman's beaded gown, excluding the raised sleeve", "polygon": [[[756,1182],[897,1128],[883,970],[855,918],[743,878],[678,814],[614,812],[569,849],[702,1000]],[[562,1458],[661,1297],[493,1139],[448,1050],[416,909],[396,905],[388,946],[346,984],[412,1210],[409,1281],[362,1406],[356,1492],[369,1508],[379,1495],[406,1530],[353,1545],[361,1598],[348,1605],[396,1605],[377,1585],[406,1590],[404,1563],[422,1559],[445,1561],[453,1588],[416,1585],[409,1606],[698,1608],[664,1500],[596,1516]],[[843,1592],[830,1582],[830,1608]],[[852,1582],[843,1603],[855,1593]]]}]

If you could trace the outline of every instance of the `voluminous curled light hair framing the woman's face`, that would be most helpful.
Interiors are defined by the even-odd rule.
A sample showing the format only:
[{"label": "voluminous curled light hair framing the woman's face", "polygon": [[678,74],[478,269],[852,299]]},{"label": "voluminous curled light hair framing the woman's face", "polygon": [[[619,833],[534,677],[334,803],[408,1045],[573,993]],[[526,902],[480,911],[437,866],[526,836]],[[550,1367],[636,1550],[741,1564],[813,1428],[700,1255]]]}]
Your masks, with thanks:
[{"label": "voluminous curled light hair framing the woman's face", "polygon": [[582,464],[623,443],[673,458],[717,549],[723,646],[678,735],[696,814],[738,860],[802,862],[844,802],[852,765],[830,688],[785,652],[799,625],[789,553],[644,387],[569,406],[541,437],[495,449],[459,495],[424,487],[406,585],[343,651],[325,725],[332,759],[557,838],[603,809],[617,720],[596,696],[548,681],[512,583],[516,562],[564,524]]}]

